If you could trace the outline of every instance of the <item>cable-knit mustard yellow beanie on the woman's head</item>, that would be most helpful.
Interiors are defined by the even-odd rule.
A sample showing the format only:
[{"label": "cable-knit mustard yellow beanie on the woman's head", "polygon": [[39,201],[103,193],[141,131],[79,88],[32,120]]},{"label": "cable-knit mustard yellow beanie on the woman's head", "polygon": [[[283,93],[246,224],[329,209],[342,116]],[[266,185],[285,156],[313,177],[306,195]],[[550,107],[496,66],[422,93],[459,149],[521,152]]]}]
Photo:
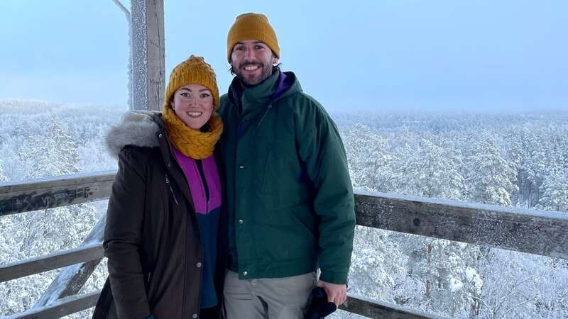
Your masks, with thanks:
[{"label": "cable-knit mustard yellow beanie on the woman's head", "polygon": [[213,96],[214,109],[217,110],[219,107],[219,88],[217,87],[215,72],[203,57],[196,57],[195,55],[173,69],[168,87],[165,88],[162,108],[169,108],[175,91],[187,84],[201,84],[209,89]]}]

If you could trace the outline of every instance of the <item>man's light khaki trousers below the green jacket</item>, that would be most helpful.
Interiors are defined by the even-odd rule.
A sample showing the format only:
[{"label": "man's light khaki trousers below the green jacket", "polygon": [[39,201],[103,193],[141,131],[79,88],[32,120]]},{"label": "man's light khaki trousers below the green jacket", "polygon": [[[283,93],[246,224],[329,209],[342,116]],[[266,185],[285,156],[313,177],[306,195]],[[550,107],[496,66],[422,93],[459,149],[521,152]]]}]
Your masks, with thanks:
[{"label": "man's light khaki trousers below the green jacket", "polygon": [[239,280],[239,274],[227,271],[223,292],[226,319],[302,319],[316,282],[315,272]]}]

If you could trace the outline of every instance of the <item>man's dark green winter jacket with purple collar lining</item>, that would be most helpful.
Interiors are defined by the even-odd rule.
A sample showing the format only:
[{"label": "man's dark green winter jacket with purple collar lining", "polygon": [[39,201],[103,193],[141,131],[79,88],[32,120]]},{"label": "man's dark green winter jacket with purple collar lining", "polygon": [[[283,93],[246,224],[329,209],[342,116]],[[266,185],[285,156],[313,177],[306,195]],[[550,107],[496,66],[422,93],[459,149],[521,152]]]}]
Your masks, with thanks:
[{"label": "man's dark green winter jacket with purple collar lining", "polygon": [[279,69],[246,89],[235,78],[220,103],[229,269],[258,279],[320,267],[320,279],[345,284],[354,198],[331,118],[292,72]]}]

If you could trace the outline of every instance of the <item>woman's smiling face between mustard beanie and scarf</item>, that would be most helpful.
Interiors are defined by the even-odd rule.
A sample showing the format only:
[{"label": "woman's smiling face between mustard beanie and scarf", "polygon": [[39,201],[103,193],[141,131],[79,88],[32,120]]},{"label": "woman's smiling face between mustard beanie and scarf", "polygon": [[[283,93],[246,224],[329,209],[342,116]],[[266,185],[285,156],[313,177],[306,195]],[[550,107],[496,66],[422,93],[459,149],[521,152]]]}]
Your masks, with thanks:
[{"label": "woman's smiling face between mustard beanie and scarf", "polygon": [[200,130],[213,113],[213,96],[205,86],[187,84],[175,91],[171,105],[185,125]]}]

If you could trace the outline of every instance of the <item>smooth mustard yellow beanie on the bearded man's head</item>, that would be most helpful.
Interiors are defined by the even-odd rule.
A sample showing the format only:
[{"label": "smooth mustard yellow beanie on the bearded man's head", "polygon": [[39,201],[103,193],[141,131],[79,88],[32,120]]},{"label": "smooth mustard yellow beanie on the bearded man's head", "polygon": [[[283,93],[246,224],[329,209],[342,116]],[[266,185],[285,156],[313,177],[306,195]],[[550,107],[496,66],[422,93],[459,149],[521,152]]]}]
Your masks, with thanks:
[{"label": "smooth mustard yellow beanie on the bearded man's head", "polygon": [[276,57],[280,57],[276,33],[271,24],[268,23],[268,18],[261,13],[243,13],[236,17],[235,23],[229,29],[229,35],[226,37],[226,55],[229,63],[231,63],[233,47],[241,40],[262,41],[271,48]]}]

